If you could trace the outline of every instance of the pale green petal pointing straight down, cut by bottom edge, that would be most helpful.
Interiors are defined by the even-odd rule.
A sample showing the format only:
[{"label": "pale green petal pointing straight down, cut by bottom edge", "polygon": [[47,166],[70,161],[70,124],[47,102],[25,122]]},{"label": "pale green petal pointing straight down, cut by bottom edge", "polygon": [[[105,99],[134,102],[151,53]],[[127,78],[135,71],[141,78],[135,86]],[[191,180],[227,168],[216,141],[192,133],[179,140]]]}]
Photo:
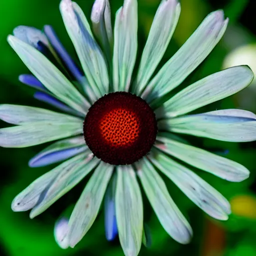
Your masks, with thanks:
[{"label": "pale green petal pointing straight down, cut by bottom edge", "polygon": [[115,213],[125,256],[136,256],[141,247],[143,204],[135,172],[130,165],[117,166]]}]

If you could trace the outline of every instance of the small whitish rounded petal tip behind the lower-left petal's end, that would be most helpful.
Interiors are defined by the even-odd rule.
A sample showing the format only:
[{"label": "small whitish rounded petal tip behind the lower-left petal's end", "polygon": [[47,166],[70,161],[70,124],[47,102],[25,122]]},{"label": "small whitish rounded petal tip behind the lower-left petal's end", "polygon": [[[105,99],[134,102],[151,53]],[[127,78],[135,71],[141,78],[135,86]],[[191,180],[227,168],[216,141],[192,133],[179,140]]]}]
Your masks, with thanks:
[{"label": "small whitish rounded petal tip behind the lower-left petal's end", "polygon": [[58,246],[62,249],[67,249],[69,247],[67,233],[68,219],[62,217],[58,219],[54,225],[54,238]]}]

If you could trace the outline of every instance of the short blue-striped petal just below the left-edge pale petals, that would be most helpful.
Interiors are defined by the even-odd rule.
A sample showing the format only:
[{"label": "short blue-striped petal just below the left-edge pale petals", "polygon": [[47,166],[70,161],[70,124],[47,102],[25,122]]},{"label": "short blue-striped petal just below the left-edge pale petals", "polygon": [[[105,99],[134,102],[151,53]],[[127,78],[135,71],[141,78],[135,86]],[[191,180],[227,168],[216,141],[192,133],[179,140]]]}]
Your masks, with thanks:
[{"label": "short blue-striped petal just below the left-edge pale petals", "polygon": [[65,160],[88,149],[83,136],[59,140],[36,154],[29,160],[30,167],[40,167]]}]

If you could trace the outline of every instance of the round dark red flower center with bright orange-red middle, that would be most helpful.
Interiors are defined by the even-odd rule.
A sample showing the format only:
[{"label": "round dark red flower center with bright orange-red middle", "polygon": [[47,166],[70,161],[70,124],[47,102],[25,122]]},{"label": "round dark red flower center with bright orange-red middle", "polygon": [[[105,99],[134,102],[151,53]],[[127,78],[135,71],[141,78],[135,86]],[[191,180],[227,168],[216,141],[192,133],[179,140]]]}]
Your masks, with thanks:
[{"label": "round dark red flower center with bright orange-red middle", "polygon": [[92,153],[110,164],[131,164],[147,154],[156,138],[155,114],[142,98],[112,92],[98,99],[83,123]]}]

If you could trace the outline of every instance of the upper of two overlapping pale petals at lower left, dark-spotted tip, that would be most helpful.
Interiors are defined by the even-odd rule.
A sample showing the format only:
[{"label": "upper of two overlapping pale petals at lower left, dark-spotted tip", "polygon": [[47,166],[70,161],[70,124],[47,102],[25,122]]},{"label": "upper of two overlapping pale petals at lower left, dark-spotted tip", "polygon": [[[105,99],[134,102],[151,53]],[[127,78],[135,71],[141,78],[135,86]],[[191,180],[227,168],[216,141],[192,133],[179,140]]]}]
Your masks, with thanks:
[{"label": "upper of two overlapping pale petals at lower left, dark-spotted tip", "polygon": [[13,211],[25,211],[33,208],[41,193],[55,180],[61,170],[70,166],[71,163],[79,162],[83,157],[84,154],[77,155],[35,179],[13,199],[11,209]]}]

